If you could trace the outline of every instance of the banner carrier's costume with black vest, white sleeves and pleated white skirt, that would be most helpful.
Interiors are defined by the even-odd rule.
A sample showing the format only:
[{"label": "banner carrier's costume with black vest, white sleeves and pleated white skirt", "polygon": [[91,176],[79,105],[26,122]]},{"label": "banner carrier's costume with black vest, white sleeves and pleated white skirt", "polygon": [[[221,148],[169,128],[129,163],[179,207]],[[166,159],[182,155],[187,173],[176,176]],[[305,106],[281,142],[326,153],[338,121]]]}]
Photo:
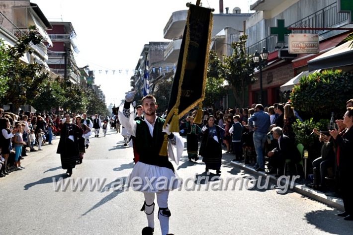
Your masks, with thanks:
[{"label": "banner carrier's costume with black vest, white sleeves and pleated white skirt", "polygon": [[[167,235],[169,234],[169,217],[171,216],[168,208],[169,191],[178,188],[181,182],[168,157],[159,155],[164,141],[165,133],[162,130],[165,119],[156,116],[154,125],[146,119],[135,121],[134,108],[126,101],[119,108],[118,115],[121,124],[134,136],[136,152],[139,155],[139,161],[136,162],[128,183],[135,191],[144,193],[145,202],[141,211],[146,213],[148,227],[142,230],[142,234],[152,235],[154,232],[154,200],[157,195],[158,219],[162,235]],[[177,133],[169,135],[168,140],[168,156],[178,163],[184,142]],[[136,179],[141,181],[136,183]]]}]

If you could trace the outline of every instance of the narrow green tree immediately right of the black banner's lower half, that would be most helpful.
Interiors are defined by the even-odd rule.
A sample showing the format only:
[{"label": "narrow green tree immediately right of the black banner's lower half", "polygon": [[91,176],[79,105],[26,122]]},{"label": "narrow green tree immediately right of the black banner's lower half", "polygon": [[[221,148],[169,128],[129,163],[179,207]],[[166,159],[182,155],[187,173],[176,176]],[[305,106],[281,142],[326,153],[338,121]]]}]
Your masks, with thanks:
[{"label": "narrow green tree immediately right of the black banner's lower half", "polygon": [[208,67],[207,67],[207,82],[205,90],[204,106],[212,106],[214,109],[215,102],[219,101],[225,95],[223,87],[224,78],[222,70],[222,62],[218,58],[216,52],[210,51]]}]

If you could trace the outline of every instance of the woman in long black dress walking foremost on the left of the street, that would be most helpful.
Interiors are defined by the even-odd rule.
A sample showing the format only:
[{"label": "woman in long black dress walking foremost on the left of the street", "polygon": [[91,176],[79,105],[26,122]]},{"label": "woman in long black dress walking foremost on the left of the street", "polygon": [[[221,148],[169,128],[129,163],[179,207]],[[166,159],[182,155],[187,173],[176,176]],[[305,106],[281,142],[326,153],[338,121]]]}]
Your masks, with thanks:
[{"label": "woman in long black dress walking foremost on the left of the street", "polygon": [[79,138],[84,131],[76,124],[70,123],[70,114],[66,113],[60,124],[61,134],[57,154],[60,154],[61,166],[66,169],[68,176],[72,175],[72,169],[75,168],[79,160]]}]

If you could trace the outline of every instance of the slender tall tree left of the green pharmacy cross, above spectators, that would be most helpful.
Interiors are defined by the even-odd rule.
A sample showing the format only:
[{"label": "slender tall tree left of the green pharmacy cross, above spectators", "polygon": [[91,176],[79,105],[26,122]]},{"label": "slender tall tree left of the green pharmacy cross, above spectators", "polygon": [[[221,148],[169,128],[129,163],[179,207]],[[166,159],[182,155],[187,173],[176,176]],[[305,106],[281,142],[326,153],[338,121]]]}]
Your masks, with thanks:
[{"label": "slender tall tree left of the green pharmacy cross, above spectators", "polygon": [[238,42],[232,43],[233,55],[224,58],[224,78],[233,88],[234,98],[240,107],[245,106],[245,94],[248,86],[254,82],[254,63],[252,56],[246,53],[248,35],[242,35]]}]

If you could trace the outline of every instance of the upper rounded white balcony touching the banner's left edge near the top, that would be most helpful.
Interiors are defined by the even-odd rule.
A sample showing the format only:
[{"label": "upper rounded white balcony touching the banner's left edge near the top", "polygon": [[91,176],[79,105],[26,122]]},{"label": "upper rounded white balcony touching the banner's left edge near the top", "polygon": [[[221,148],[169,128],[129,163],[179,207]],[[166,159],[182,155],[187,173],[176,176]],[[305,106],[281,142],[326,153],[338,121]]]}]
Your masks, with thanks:
[{"label": "upper rounded white balcony touching the banner's left edge near the top", "polygon": [[164,28],[164,38],[173,39],[184,33],[187,10],[179,10],[172,13],[166,27]]}]

